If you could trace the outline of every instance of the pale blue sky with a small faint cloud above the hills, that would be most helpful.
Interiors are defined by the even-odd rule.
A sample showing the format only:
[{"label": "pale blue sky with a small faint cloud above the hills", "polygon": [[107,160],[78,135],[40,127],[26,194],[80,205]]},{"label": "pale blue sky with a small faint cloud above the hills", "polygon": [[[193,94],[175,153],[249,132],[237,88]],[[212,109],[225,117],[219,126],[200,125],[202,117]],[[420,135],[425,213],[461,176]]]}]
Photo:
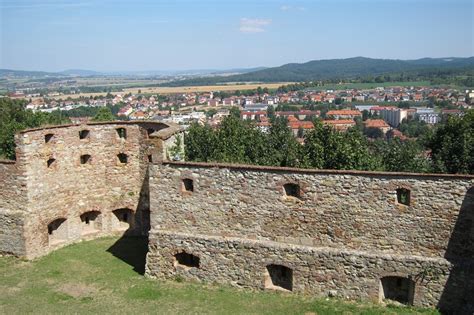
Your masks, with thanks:
[{"label": "pale blue sky with a small faint cloud above the hills", "polygon": [[473,0],[0,0],[0,68],[184,70],[474,55]]}]

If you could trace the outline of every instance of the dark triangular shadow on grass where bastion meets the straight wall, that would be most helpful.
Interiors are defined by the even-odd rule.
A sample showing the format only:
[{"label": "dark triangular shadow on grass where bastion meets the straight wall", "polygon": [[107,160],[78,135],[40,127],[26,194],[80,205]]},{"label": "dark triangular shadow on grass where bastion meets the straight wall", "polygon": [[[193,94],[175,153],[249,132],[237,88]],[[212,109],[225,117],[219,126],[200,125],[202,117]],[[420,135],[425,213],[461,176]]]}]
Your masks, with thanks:
[{"label": "dark triangular shadow on grass where bastion meets the straight wall", "polygon": [[132,266],[133,270],[138,274],[145,274],[148,237],[122,236],[114,245],[107,249],[107,252]]}]

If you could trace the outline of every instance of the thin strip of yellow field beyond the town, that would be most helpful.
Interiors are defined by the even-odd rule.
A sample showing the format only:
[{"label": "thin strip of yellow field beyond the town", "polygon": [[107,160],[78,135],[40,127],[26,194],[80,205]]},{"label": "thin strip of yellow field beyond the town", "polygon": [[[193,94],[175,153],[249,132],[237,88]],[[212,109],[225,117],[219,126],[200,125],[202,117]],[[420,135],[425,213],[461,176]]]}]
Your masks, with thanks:
[{"label": "thin strip of yellow field beyond the town", "polygon": [[[291,82],[281,82],[281,83],[251,83],[251,84],[226,84],[226,85],[202,85],[202,86],[179,86],[179,87],[146,87],[146,88],[130,88],[124,89],[123,92],[111,92],[112,94],[127,94],[138,93],[138,90],[141,90],[142,93],[152,93],[152,94],[173,94],[173,93],[191,93],[191,92],[211,92],[211,91],[235,91],[235,90],[251,90],[256,89],[259,86],[261,88],[276,89],[282,85],[291,84]],[[51,98],[60,100],[66,99],[68,97],[77,98],[79,96],[100,96],[105,95],[106,93],[81,93],[81,94],[69,94],[69,95],[60,95],[53,96]]]}]

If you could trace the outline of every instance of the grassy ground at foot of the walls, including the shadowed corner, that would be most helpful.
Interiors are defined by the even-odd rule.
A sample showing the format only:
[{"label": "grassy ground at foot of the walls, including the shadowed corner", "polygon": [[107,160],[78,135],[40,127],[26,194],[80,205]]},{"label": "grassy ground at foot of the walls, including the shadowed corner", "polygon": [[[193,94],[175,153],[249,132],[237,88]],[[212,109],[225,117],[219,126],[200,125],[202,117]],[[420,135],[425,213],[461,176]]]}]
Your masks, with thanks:
[{"label": "grassy ground at foot of the walls, including the shadowed corner", "polygon": [[146,241],[103,238],[27,262],[0,257],[0,314],[437,314],[434,310],[142,276]]}]

